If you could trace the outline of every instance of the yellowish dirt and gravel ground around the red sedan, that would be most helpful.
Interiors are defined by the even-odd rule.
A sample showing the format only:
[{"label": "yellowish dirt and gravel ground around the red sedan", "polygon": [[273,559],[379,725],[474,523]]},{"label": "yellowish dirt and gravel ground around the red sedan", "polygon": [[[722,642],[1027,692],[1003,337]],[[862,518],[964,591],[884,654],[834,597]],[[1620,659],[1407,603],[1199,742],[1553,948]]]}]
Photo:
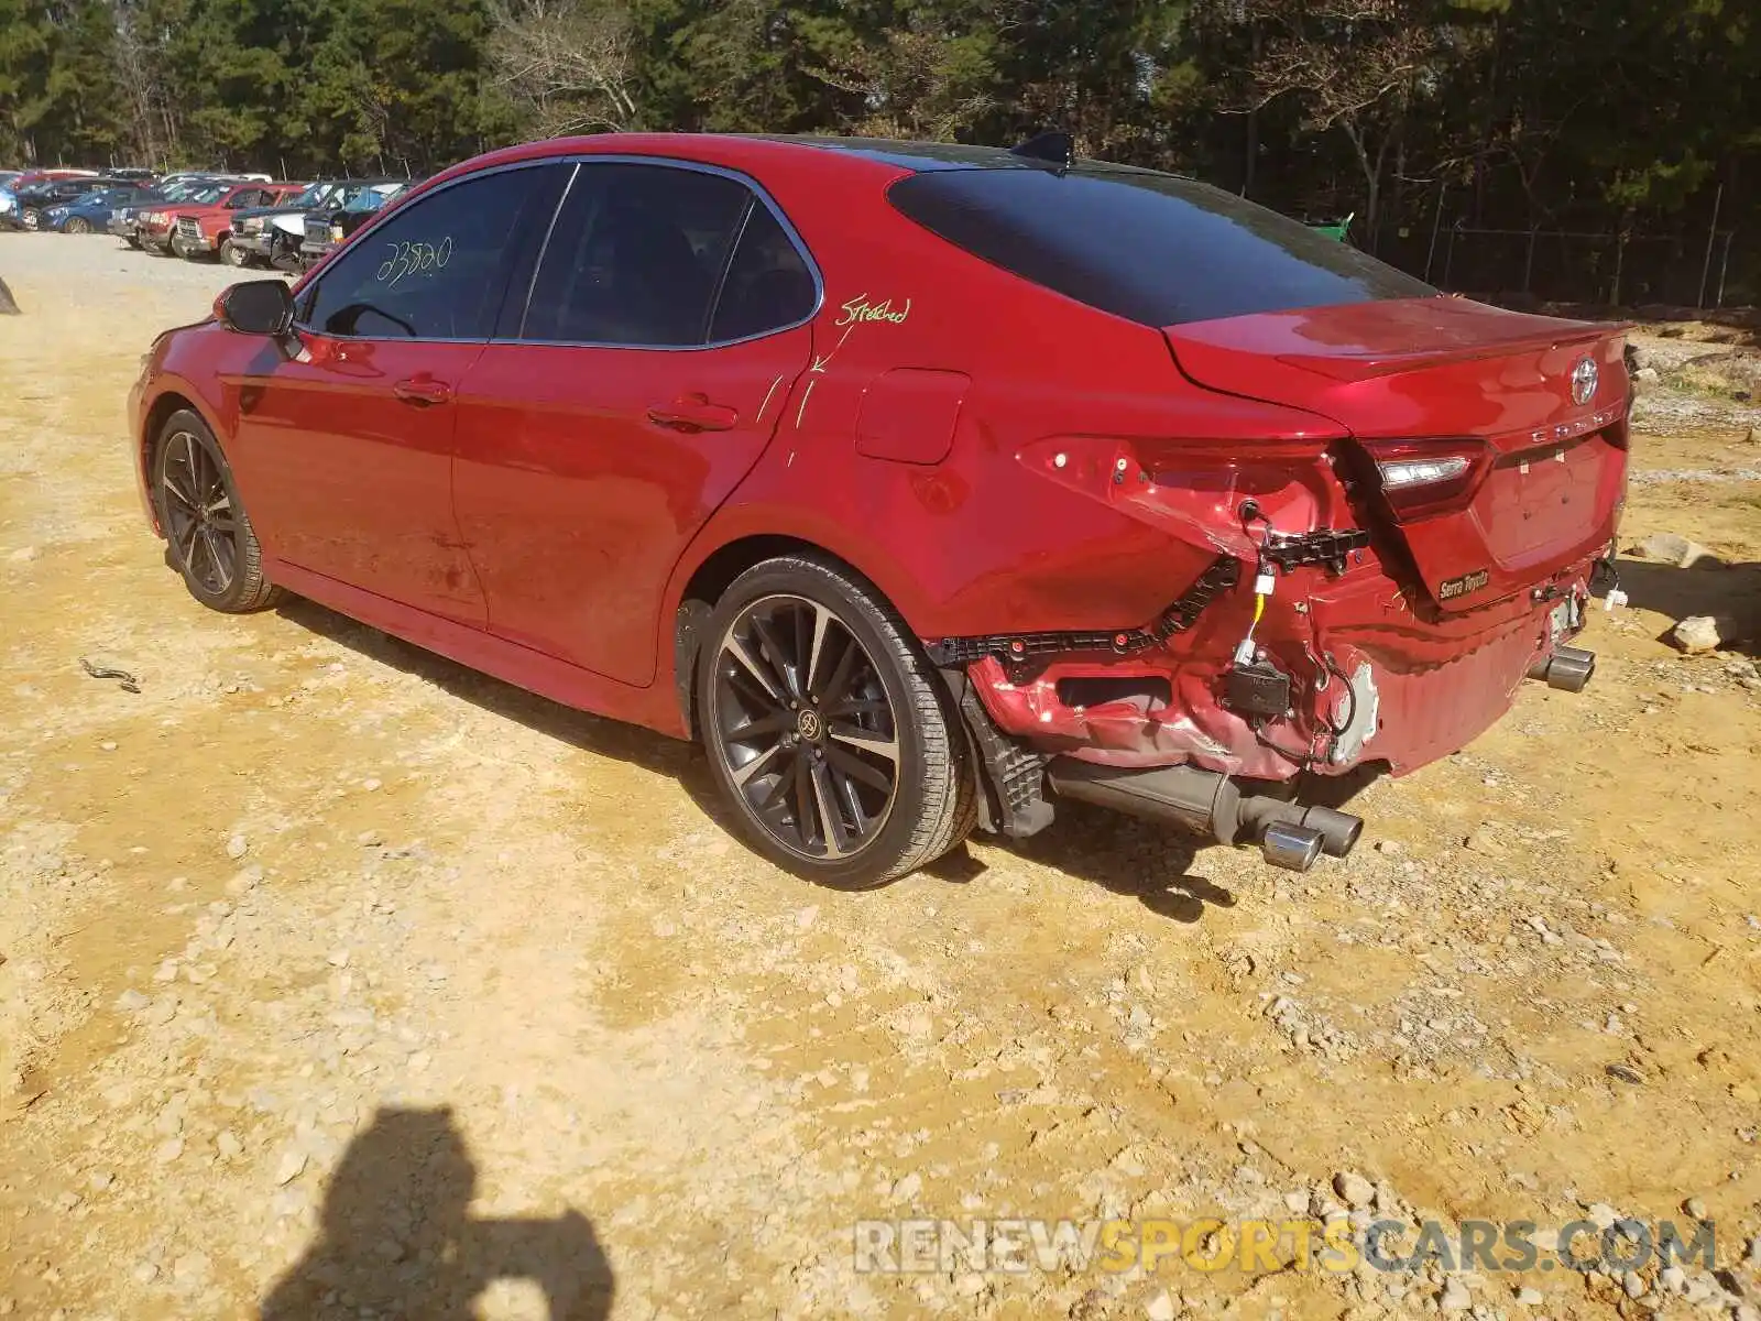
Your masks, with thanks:
[{"label": "yellowish dirt and gravel ground around the red sedan", "polygon": [[[1060,805],[849,897],[685,745],[201,609],[122,407],[227,273],[0,234],[0,1316],[1750,1316],[1761,678],[1664,634],[1757,618],[1761,417],[1659,414],[1625,532],[1726,567],[1629,565],[1592,687],[1370,786],[1347,863]],[[852,1266],[859,1219],[1287,1217],[1338,1173],[1451,1222],[1698,1198],[1733,1270]]]}]

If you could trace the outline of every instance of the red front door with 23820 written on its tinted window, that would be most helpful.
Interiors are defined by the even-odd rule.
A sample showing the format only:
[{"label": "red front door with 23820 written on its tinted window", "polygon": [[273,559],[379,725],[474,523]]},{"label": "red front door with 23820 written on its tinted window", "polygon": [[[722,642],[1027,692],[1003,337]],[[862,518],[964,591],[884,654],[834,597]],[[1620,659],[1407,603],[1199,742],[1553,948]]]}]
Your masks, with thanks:
[{"label": "red front door with 23820 written on its tinted window", "polygon": [[534,257],[534,217],[549,220],[565,178],[542,162],[465,176],[338,252],[301,291],[299,352],[266,352],[238,382],[232,465],[273,557],[484,622],[453,516],[454,395],[511,271]]}]

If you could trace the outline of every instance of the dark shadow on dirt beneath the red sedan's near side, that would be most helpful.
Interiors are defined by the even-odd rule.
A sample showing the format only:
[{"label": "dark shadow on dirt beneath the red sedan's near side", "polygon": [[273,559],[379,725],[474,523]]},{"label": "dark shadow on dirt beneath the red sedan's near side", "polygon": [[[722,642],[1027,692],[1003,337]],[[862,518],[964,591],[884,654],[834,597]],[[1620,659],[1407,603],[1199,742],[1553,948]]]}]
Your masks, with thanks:
[{"label": "dark shadow on dirt beneath the red sedan's near side", "polygon": [[[704,754],[694,743],[539,697],[301,597],[291,597],[276,609],[303,629],[416,675],[486,712],[586,752],[671,777],[720,830],[741,838]],[[1028,861],[1139,898],[1152,912],[1176,921],[1199,921],[1206,905],[1234,905],[1231,891],[1190,875],[1201,840],[1087,803],[1060,800],[1057,807],[1058,817],[1048,830],[1028,840],[1006,842],[1006,847]],[[969,849],[958,847],[926,867],[925,874],[965,884],[983,870],[984,865]]]}]

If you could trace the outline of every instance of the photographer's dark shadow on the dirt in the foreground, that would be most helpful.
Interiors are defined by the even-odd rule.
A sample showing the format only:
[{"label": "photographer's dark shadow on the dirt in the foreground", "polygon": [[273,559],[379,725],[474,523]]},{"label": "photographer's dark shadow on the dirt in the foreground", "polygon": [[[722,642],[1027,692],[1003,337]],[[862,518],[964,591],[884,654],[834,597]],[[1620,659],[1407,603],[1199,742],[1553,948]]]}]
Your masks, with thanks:
[{"label": "photographer's dark shadow on the dirt in the foreground", "polygon": [[336,1166],[319,1240],[261,1316],[468,1321],[495,1280],[532,1280],[551,1321],[608,1317],[611,1268],[586,1217],[477,1221],[475,1182],[451,1110],[380,1110]]}]

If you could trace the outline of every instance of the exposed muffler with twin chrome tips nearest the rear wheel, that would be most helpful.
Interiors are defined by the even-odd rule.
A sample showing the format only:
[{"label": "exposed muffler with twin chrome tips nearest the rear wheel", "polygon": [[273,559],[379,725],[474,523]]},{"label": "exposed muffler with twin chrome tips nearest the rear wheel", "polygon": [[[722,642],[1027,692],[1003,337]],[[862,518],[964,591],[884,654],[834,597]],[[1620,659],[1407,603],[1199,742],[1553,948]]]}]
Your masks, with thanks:
[{"label": "exposed muffler with twin chrome tips nearest the rear wheel", "polygon": [[1294,872],[1307,872],[1323,852],[1344,858],[1363,835],[1363,817],[1268,794],[1243,796],[1227,775],[1197,766],[1125,770],[1053,757],[1046,779],[1065,798],[1212,835],[1222,844],[1256,840],[1268,863]]}]

